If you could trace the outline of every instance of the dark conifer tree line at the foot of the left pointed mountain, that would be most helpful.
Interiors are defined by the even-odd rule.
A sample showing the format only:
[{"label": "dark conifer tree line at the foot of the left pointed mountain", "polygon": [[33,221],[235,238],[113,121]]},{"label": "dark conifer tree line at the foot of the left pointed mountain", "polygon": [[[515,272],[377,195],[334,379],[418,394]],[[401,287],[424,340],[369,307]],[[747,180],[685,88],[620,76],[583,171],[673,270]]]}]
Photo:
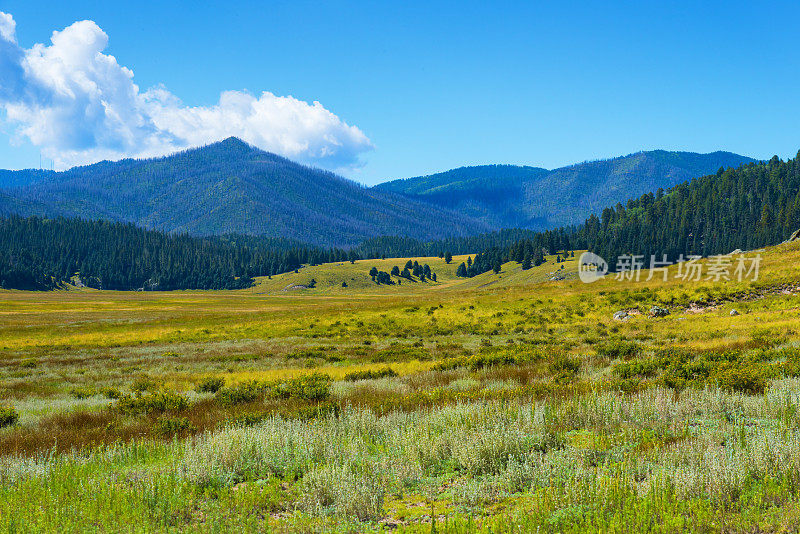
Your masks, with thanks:
[{"label": "dark conifer tree line at the foot of the left pointed mountain", "polygon": [[0,219],[0,287],[6,289],[48,290],[69,282],[114,290],[239,289],[255,276],[355,254],[285,239],[199,238],[106,221]]}]

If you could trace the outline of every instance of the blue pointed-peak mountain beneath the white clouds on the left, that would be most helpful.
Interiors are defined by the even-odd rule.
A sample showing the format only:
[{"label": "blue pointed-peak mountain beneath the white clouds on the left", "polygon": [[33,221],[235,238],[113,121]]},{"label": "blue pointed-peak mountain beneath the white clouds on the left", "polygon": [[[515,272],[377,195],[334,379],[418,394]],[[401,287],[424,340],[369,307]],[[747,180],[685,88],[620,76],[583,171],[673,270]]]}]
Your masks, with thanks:
[{"label": "blue pointed-peak mountain beneath the white clouds on the left", "polygon": [[239,233],[349,246],[379,235],[430,240],[490,229],[236,138],[163,158],[2,176],[2,183],[18,185],[0,188],[0,214],[131,222],[201,236]]}]

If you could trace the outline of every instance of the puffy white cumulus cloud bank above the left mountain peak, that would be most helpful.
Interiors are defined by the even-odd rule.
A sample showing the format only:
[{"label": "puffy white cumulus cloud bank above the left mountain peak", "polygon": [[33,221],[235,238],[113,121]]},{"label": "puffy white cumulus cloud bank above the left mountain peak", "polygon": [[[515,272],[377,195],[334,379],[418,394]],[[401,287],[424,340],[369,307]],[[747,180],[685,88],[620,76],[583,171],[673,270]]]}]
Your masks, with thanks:
[{"label": "puffy white cumulus cloud bank above the left mountain peak", "polygon": [[92,21],[24,49],[0,12],[0,108],[17,140],[41,147],[58,167],[159,156],[230,136],[329,169],[359,165],[364,133],[319,102],[225,91],[213,106],[185,106],[165,87],[141,91],[133,71],[104,54],[108,35]]}]

